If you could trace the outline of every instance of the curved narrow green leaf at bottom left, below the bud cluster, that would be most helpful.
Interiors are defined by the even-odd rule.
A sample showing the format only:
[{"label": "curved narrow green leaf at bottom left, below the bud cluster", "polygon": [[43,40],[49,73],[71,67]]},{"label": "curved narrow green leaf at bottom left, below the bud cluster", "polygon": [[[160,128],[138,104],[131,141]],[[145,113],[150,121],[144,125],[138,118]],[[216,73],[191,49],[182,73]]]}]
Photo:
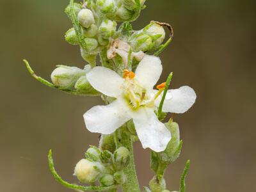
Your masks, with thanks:
[{"label": "curved narrow green leaf at bottom left, below the bud cluster", "polygon": [[70,189],[75,189],[75,190],[82,190],[82,191],[107,191],[110,189],[115,189],[116,186],[79,186],[76,184],[70,184],[67,181],[61,179],[60,175],[58,175],[58,173],[56,172],[55,168],[54,168],[54,163],[53,163],[53,159],[52,159],[52,150],[49,150],[49,154],[48,154],[48,162],[49,162],[49,168],[51,170],[51,173],[53,175],[53,177],[63,186],[65,186],[66,188],[70,188]]}]

